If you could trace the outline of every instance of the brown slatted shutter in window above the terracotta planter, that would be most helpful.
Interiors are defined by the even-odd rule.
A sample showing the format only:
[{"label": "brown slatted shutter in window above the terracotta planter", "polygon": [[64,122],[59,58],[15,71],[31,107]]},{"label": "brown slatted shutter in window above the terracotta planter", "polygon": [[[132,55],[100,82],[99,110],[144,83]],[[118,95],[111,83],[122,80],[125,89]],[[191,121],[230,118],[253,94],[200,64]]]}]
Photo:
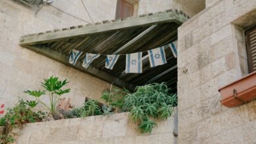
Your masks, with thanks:
[{"label": "brown slatted shutter in window above the terracotta planter", "polygon": [[249,73],[256,71],[256,26],[245,31]]}]

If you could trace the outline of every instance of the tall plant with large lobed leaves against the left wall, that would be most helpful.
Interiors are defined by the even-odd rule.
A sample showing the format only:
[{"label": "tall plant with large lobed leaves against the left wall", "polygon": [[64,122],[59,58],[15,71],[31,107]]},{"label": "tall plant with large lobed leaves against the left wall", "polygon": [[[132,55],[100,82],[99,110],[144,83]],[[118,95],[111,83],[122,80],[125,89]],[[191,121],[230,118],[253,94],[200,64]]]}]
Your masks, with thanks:
[{"label": "tall plant with large lobed leaves against the left wall", "polygon": [[[64,81],[59,81],[58,77],[50,77],[49,79],[45,79],[42,82],[43,88],[45,90],[27,90],[26,93],[29,94],[30,96],[33,96],[39,103],[44,105],[49,112],[53,115],[56,111],[56,104],[58,103],[60,96],[62,94],[66,94],[70,92],[70,88],[67,89],[62,89],[63,86],[67,84],[67,80],[65,79]],[[49,95],[49,105],[42,101],[40,98],[41,96],[45,95],[45,92]],[[34,102],[28,103],[28,105],[34,106]]]}]

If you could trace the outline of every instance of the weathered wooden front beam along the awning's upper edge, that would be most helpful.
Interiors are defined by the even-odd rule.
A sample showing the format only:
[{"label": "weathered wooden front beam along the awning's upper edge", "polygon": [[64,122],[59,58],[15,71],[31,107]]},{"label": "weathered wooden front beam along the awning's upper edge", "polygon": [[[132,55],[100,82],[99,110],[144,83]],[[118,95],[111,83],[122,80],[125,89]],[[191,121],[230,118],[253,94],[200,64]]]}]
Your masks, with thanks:
[{"label": "weathered wooden front beam along the awning's upper edge", "polygon": [[132,27],[144,27],[167,22],[182,24],[185,20],[187,20],[187,18],[184,15],[173,12],[173,10],[167,10],[165,12],[159,12],[150,16],[119,20],[117,22],[110,22],[95,26],[85,26],[75,29],[65,29],[62,31],[47,31],[46,33],[24,35],[20,38],[20,45],[37,45],[53,41],[60,41],[62,39],[70,39],[72,37],[80,37],[118,29],[129,29]]}]

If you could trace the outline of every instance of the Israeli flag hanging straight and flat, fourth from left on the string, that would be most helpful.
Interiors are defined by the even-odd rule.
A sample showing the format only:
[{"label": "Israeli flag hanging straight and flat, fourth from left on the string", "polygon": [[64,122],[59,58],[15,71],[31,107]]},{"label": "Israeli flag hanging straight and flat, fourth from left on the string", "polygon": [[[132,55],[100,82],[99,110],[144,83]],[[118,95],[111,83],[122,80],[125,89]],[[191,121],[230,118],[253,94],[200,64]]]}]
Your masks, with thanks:
[{"label": "Israeli flag hanging straight and flat, fourth from left on the string", "polygon": [[125,73],[142,73],[142,52],[126,54]]}]

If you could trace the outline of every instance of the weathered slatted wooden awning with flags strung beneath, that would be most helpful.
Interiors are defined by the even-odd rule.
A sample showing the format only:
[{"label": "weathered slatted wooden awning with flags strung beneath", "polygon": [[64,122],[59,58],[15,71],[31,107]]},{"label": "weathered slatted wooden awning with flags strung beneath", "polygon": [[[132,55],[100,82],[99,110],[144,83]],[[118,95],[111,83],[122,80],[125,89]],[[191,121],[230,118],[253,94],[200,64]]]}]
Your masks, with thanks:
[{"label": "weathered slatted wooden awning with flags strung beneath", "polygon": [[168,48],[165,48],[167,64],[153,68],[144,52],[143,73],[140,74],[124,73],[125,56],[119,57],[113,70],[104,67],[105,56],[100,56],[87,69],[81,67],[85,53],[80,56],[75,66],[68,63],[68,58],[73,48],[95,54],[127,54],[165,46],[177,39],[177,28],[186,20],[187,16],[182,12],[165,10],[137,18],[106,20],[96,24],[24,35],[20,38],[20,45],[129,90],[138,85],[163,81],[175,89],[177,59]]}]

